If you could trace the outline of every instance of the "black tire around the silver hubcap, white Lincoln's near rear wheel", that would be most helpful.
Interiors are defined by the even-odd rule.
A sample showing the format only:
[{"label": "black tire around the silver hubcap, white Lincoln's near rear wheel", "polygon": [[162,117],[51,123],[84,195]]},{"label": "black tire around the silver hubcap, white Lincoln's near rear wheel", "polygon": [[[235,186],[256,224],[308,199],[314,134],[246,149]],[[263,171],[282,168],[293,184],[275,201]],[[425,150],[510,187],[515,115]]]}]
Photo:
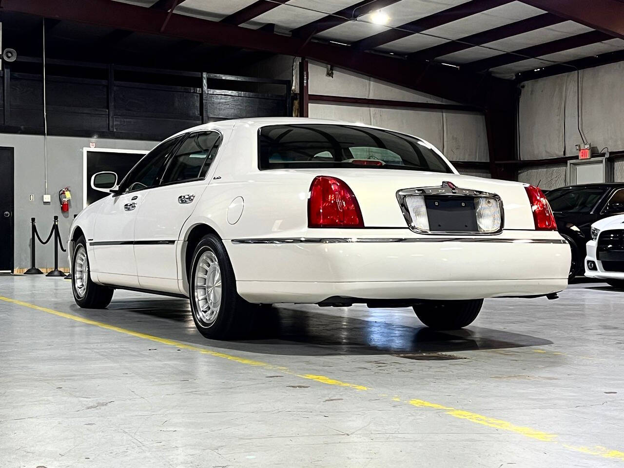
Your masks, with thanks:
[{"label": "black tire around the silver hubcap, white Lincoln's near rear wheel", "polygon": [[[196,285],[198,269],[200,269],[200,274],[203,275],[201,271],[205,270],[204,265],[207,265],[206,262],[212,260],[212,257],[215,257],[218,262],[217,268],[220,271],[221,288],[219,306],[215,316],[210,315],[213,308],[211,305],[212,301],[209,298],[216,298],[216,296],[210,296],[208,292],[210,288],[207,286]],[[202,261],[202,266],[200,266],[200,260]],[[206,285],[208,285],[208,277],[213,274],[214,272],[211,273],[209,270],[206,270]],[[202,289],[205,291],[205,295],[202,294]],[[217,236],[212,234],[205,235],[197,247],[195,247],[190,275],[188,276],[188,290],[190,292],[193,321],[203,336],[210,339],[235,339],[243,338],[243,336],[249,333],[251,313],[256,306],[245,301],[236,292],[236,278],[230,257],[225,250],[223,242]],[[213,294],[216,295],[214,292]],[[207,310],[203,310],[202,300],[206,300],[207,304],[205,306]]]}]

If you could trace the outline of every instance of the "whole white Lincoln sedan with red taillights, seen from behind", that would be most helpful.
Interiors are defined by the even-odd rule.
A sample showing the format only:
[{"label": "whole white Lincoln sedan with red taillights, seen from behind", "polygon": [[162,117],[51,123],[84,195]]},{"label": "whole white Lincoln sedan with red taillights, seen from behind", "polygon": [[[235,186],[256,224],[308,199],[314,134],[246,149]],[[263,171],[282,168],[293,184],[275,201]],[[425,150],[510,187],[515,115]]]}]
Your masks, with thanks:
[{"label": "whole white Lincoln sedan with red taillights, seen from behind", "polygon": [[437,329],[484,298],[567,286],[570,248],[530,185],[459,175],[431,144],[328,120],[229,120],[165,140],[70,232],[76,303],[115,289],[190,298],[209,338],[258,305],[412,306]]}]

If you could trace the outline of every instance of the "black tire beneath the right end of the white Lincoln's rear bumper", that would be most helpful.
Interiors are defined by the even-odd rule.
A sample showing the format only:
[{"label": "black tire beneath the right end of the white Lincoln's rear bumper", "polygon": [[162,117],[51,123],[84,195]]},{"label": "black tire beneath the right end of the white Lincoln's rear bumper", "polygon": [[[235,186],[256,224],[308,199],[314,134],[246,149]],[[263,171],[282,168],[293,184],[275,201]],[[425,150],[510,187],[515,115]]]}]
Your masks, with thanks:
[{"label": "black tire beneath the right end of the white Lincoln's rear bumper", "polygon": [[481,310],[482,299],[424,301],[414,306],[418,319],[434,330],[457,330],[471,324]]}]

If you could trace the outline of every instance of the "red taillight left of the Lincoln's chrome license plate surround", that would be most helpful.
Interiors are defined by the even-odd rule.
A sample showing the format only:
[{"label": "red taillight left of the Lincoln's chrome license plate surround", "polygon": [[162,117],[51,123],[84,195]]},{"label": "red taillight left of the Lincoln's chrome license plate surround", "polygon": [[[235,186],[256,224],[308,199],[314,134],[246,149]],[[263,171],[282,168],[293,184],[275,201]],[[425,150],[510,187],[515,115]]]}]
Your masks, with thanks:
[{"label": "red taillight left of the Lincoln's chrome license plate surround", "polygon": [[364,227],[358,200],[343,180],[327,175],[314,178],[308,199],[308,227]]}]

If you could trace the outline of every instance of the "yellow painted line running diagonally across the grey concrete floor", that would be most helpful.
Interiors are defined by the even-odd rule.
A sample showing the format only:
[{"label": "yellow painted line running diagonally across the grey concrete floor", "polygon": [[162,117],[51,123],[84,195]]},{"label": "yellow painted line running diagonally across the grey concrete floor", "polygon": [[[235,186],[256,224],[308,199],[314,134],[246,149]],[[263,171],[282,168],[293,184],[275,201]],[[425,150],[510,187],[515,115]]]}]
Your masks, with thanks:
[{"label": "yellow painted line running diagonally across the grey concrete floor", "polygon": [[[283,366],[276,366],[275,364],[265,363],[263,361],[256,361],[255,359],[241,358],[240,356],[235,356],[233,354],[213,351],[212,349],[208,349],[203,346],[195,346],[193,344],[183,343],[182,341],[175,341],[173,339],[160,338],[159,336],[154,336],[154,335],[150,335],[146,333],[140,333],[139,331],[129,330],[129,329],[122,328],[119,326],[110,325],[108,323],[103,323],[103,322],[91,320],[88,318],[80,317],[78,315],[68,314],[65,312],[57,311],[57,310],[52,310],[46,307],[37,306],[31,303],[7,298],[4,296],[0,296],[0,300],[13,303],[19,306],[31,308],[34,310],[47,312],[49,314],[54,314],[56,316],[71,319],[80,323],[94,325],[94,326],[104,328],[107,330],[117,331],[118,333],[124,333],[130,336],[135,336],[136,338],[148,339],[150,341],[155,341],[157,343],[167,344],[168,346],[175,346],[176,348],[179,348],[179,349],[189,349],[192,351],[198,351],[202,354],[208,354],[209,356],[213,356],[215,358],[228,359],[228,361],[233,361],[239,364],[246,364],[248,366],[256,366],[259,368],[271,369],[271,370],[278,369],[285,374],[290,374],[290,375],[303,378],[303,379],[310,379],[310,380],[313,380],[322,384],[326,384],[326,385],[345,387],[345,388],[350,388],[350,389],[354,389],[357,391],[373,391],[373,389],[367,386],[347,383],[347,382],[339,381],[339,380],[332,379],[326,376],[319,376],[316,374],[298,374]],[[493,417],[483,416],[482,414],[477,414],[474,412],[465,411],[463,409],[457,409],[457,408],[450,407],[450,406],[444,406],[441,404],[424,401],[421,399],[402,400],[398,396],[389,397],[386,394],[379,394],[378,396],[387,397],[389,401],[402,402],[402,403],[406,403],[414,407],[419,407],[423,409],[428,408],[428,409],[435,410],[435,411],[442,411],[444,412],[444,414],[447,414],[452,417],[456,417],[458,419],[464,419],[466,421],[473,422],[474,424],[481,424],[482,426],[492,427],[500,431],[520,434],[522,436],[529,437],[530,439],[534,439],[537,441],[557,444],[558,446],[563,447],[569,451],[573,451],[577,453],[580,452],[580,453],[590,455],[590,456],[602,457],[602,458],[607,458],[607,459],[612,459],[612,460],[617,460],[617,461],[624,461],[624,452],[613,450],[613,449],[607,449],[607,447],[602,447],[602,446],[587,447],[587,446],[577,446],[575,444],[563,443],[563,442],[558,441],[559,436],[557,436],[557,434],[551,434],[548,432],[538,431],[537,429],[533,429],[532,427],[517,426],[515,424],[512,424],[511,422],[503,421],[502,419],[495,419]]]}]

